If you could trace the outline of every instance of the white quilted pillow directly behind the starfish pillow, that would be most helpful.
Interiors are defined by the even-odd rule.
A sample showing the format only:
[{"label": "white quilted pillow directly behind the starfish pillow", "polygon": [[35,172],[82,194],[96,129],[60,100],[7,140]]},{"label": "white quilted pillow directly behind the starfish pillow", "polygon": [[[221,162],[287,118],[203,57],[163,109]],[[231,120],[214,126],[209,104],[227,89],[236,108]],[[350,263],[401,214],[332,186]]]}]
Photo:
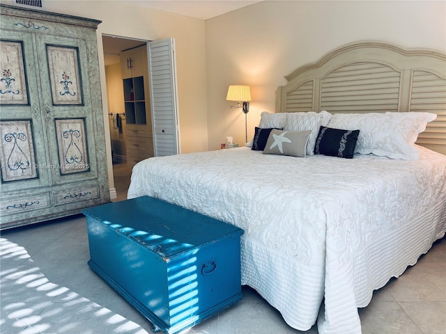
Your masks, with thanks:
[{"label": "white quilted pillow directly behind the starfish pillow", "polygon": [[284,131],[301,132],[311,130],[312,133],[309,135],[307,142],[307,155],[313,155],[322,119],[323,115],[321,113],[313,111],[309,113],[286,113]]}]

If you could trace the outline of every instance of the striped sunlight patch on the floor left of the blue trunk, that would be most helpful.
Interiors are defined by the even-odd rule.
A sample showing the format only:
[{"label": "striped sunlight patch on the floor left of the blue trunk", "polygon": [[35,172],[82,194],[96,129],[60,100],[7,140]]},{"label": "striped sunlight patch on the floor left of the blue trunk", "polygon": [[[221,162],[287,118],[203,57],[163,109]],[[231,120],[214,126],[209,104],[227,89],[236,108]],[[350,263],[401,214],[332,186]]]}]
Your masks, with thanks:
[{"label": "striped sunlight patch on the floor left of the blue trunk", "polygon": [[[125,317],[49,282],[24,247],[0,238],[0,260],[6,259],[17,264],[0,269],[2,327],[16,328],[20,334],[99,334],[99,324],[101,334],[147,333]],[[90,324],[96,329],[89,328]]]}]

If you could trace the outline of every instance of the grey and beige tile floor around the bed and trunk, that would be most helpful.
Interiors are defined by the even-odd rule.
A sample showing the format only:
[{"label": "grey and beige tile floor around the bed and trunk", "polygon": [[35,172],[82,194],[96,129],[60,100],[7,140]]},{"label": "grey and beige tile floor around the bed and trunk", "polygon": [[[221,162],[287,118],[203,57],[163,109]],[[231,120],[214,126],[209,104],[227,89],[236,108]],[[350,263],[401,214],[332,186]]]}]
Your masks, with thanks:
[{"label": "grey and beige tile floor around the bed and trunk", "polygon": [[[114,166],[118,200],[130,168]],[[151,324],[87,266],[84,216],[3,231],[0,238],[1,334],[146,334]],[[256,292],[187,330],[200,334],[316,334],[295,331]],[[446,333],[446,238],[415,267],[392,279],[360,309],[363,334]]]}]

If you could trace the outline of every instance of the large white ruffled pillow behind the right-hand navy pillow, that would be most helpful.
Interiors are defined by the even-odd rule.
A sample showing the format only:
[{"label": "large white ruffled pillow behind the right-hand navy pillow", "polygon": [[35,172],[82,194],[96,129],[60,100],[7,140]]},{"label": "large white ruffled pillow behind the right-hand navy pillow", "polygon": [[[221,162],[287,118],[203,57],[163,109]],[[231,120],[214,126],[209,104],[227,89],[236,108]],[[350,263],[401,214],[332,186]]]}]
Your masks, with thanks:
[{"label": "large white ruffled pillow behind the right-hand navy pillow", "polygon": [[435,113],[336,113],[328,126],[359,129],[355,152],[360,154],[417,160],[419,153],[414,145],[417,136],[436,118]]}]

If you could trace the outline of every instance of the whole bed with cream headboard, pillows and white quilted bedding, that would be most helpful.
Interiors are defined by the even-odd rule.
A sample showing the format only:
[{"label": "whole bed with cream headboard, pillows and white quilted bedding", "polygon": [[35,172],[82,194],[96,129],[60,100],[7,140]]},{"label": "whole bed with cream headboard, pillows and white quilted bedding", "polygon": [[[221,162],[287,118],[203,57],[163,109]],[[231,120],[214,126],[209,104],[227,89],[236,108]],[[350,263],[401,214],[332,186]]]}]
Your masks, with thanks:
[{"label": "whole bed with cream headboard, pillows and white quilted bedding", "polygon": [[242,284],[289,326],[361,333],[357,308],[446,232],[446,55],[359,42],[286,79],[254,150],[146,159],[128,198],[243,228]]}]

